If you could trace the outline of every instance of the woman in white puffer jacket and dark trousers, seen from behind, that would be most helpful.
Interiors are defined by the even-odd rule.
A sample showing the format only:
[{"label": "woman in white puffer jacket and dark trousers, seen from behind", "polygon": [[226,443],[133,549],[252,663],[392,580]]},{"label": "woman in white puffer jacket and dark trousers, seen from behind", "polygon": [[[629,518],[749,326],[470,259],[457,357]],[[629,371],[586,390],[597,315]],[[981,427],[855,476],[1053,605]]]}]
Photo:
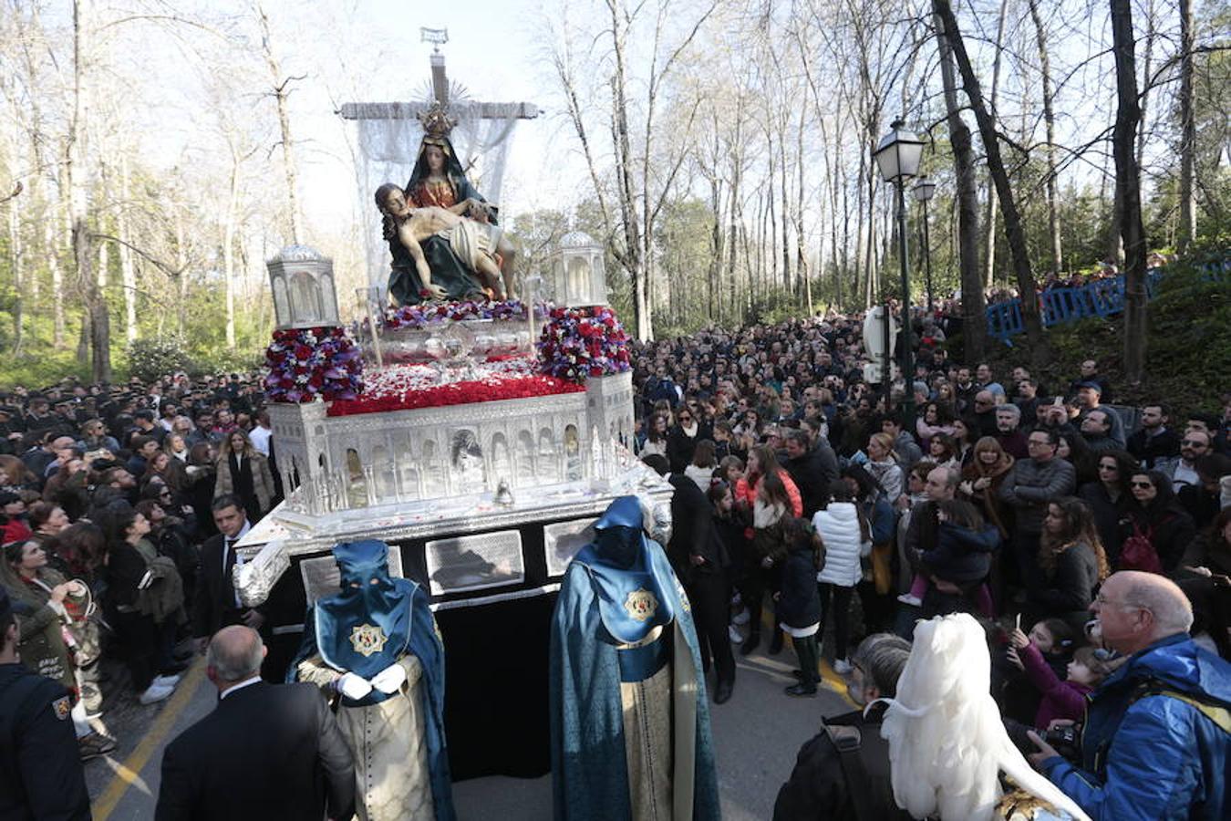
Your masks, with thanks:
[{"label": "woman in white puffer jacket and dark trousers, seen from behind", "polygon": [[[851,672],[847,645],[851,641],[851,598],[854,586],[863,579],[860,559],[872,551],[868,519],[851,489],[841,479],[830,484],[830,503],[812,517],[812,527],[825,543],[825,566],[816,574],[821,595],[821,628],[833,613],[833,670],[838,675]],[[831,611],[832,608],[832,611]]]}]

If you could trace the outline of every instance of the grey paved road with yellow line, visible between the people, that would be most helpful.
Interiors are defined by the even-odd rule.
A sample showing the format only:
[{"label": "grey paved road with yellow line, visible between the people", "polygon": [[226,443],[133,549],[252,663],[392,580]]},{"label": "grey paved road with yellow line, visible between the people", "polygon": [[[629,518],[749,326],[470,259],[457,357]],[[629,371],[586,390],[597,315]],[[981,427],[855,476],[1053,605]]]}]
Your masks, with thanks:
[{"label": "grey paved road with yellow line, visible between the people", "polygon": [[[828,666],[825,687],[812,699],[789,698],[794,682],[790,645],[777,656],[764,649],[739,657],[735,695],[714,705],[710,715],[718,756],[723,817],[763,821],[771,817],[778,788],[790,774],[795,752],[822,715],[851,709],[841,679]],[[215,703],[203,662],[186,675],[167,702],[140,707],[124,700],[108,711],[108,730],[119,746],[112,756],[86,764],[96,821],[148,821],[154,815],[162,748]],[[544,821],[551,817],[550,777],[539,779],[478,778],[454,785],[458,817]]]}]

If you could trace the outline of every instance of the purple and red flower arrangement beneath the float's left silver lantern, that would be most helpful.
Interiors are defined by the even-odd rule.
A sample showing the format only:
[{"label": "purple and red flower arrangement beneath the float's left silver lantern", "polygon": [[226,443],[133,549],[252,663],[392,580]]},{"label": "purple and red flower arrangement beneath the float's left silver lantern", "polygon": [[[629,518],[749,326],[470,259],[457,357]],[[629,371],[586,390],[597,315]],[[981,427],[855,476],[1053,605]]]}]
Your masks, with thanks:
[{"label": "purple and red flower arrangement beneath the float's left silver lantern", "polygon": [[363,357],[342,327],[273,331],[265,366],[265,393],[276,402],[355,399],[363,391]]}]

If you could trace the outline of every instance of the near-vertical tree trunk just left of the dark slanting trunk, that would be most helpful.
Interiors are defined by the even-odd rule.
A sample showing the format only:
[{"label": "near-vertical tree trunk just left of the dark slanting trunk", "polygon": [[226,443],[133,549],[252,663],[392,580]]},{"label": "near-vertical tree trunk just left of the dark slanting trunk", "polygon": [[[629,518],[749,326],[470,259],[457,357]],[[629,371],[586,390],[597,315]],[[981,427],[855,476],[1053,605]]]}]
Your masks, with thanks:
[{"label": "near-vertical tree trunk just left of the dark slanting trunk", "polygon": [[[958,81],[953,68],[953,49],[944,33],[944,21],[937,17],[937,46],[940,49],[940,80],[948,108],[949,144],[958,181],[958,268],[961,274],[961,334],[965,361],[982,362],[987,337],[987,305],[979,272],[979,191],[975,177],[975,151],[970,128],[961,119]],[[926,252],[926,249],[924,249]]]}]

